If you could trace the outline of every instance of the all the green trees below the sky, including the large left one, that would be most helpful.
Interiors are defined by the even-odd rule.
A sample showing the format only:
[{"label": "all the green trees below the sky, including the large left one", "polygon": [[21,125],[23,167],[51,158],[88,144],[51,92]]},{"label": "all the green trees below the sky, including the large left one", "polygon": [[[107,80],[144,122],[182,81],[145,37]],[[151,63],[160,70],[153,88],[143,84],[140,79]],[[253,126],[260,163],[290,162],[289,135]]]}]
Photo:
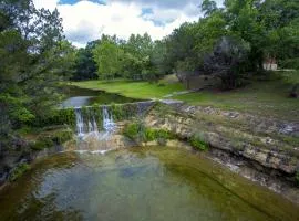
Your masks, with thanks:
[{"label": "all the green trees below the sky, including the large left one", "polygon": [[75,49],[58,10],[0,0],[0,145],[13,130],[51,115],[70,78],[154,82],[172,73],[182,81],[209,74],[234,88],[248,73],[262,71],[267,59],[299,67],[298,0],[225,0],[220,8],[204,0],[200,9],[203,18],[163,40],[102,35]]}]

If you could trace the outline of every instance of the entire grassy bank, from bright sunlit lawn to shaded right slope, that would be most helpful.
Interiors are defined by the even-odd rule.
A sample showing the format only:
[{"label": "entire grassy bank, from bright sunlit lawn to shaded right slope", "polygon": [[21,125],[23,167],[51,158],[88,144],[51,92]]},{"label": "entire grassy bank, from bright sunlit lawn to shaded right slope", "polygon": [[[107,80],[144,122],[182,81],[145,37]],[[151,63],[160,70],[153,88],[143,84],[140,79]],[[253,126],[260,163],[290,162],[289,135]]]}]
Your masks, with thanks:
[{"label": "entire grassy bank, from bright sunlit lawn to shaded right slope", "polygon": [[[279,72],[275,76],[270,76],[268,81],[252,81],[246,87],[235,91],[204,91],[172,98],[182,99],[193,105],[214,106],[280,119],[299,120],[299,99],[288,97],[290,82],[299,83],[299,72]],[[161,83],[165,86],[128,81],[87,81],[72,84],[143,99],[163,98],[167,94],[185,90],[182,84],[175,83],[174,78],[169,76],[161,81]]]}]

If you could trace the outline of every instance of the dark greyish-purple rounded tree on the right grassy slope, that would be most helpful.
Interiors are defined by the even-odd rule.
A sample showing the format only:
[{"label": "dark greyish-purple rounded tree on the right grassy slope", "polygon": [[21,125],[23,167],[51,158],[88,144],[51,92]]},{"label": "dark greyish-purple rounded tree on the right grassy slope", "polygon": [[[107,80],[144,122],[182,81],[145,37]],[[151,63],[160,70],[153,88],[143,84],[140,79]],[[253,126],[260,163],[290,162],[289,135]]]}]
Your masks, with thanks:
[{"label": "dark greyish-purple rounded tree on the right grassy slope", "polygon": [[204,71],[221,80],[225,90],[231,90],[240,84],[246,71],[249,44],[233,38],[223,38],[216,44],[214,52],[206,56]]}]

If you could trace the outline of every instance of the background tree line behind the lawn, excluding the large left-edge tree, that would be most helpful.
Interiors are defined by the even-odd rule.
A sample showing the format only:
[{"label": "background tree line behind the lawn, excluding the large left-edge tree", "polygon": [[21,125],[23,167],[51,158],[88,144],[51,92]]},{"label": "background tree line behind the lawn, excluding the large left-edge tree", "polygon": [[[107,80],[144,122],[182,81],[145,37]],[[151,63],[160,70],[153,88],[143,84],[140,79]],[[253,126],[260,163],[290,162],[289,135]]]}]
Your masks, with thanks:
[{"label": "background tree line behind the lawn, excluding the large left-edge tree", "polygon": [[73,78],[155,81],[176,73],[184,81],[212,74],[234,88],[244,75],[261,72],[267,60],[299,67],[298,0],[225,0],[223,7],[204,0],[200,9],[197,22],[159,41],[132,34],[127,41],[102,35],[90,42],[78,52]]}]

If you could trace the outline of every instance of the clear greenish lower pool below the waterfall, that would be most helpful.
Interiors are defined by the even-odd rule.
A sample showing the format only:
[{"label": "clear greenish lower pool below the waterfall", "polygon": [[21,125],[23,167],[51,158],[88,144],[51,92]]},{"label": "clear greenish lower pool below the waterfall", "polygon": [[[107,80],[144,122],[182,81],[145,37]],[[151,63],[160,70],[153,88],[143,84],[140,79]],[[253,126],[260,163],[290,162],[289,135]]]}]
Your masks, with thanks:
[{"label": "clear greenish lower pool below the waterfall", "polygon": [[176,148],[65,152],[0,193],[4,220],[299,220],[298,207]]}]

